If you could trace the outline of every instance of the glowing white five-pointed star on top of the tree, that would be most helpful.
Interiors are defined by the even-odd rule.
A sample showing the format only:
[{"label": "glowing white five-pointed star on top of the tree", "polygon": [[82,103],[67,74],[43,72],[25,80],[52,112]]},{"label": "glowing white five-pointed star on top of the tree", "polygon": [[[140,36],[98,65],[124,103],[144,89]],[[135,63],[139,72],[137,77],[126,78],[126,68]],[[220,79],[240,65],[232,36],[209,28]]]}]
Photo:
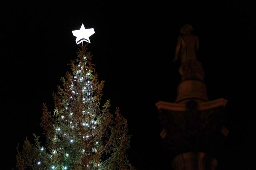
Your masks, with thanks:
[{"label": "glowing white five-pointed star on top of the tree", "polygon": [[85,29],[84,24],[82,23],[81,28],[79,30],[72,31],[72,33],[74,36],[76,36],[76,44],[79,44],[82,41],[91,43],[89,37],[95,32],[93,28]]}]

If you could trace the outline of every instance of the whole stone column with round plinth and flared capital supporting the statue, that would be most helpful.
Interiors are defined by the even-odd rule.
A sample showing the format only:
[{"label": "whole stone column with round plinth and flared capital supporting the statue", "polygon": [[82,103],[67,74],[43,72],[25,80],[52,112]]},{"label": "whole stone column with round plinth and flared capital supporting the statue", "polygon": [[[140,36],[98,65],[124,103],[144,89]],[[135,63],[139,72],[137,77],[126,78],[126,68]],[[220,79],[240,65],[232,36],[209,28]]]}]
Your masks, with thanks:
[{"label": "whole stone column with round plinth and flared capital supporting the statue", "polygon": [[222,119],[227,100],[208,100],[200,62],[186,61],[179,72],[176,101],[156,103],[163,125],[160,136],[174,170],[215,170],[223,137],[228,135]]}]

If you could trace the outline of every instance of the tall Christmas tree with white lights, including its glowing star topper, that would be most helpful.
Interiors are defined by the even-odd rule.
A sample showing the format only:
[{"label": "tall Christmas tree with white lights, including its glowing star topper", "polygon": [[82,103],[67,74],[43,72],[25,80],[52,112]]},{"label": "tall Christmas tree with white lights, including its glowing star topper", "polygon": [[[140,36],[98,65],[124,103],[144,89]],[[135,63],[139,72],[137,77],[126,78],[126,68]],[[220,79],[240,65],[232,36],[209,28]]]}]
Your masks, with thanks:
[{"label": "tall Christmas tree with white lights, including its glowing star topper", "polygon": [[[111,113],[110,100],[103,104],[104,81],[98,80],[92,55],[86,45],[94,29],[72,31],[76,36],[77,58],[70,63],[72,72],[61,78],[62,86],[53,93],[54,111],[43,104],[41,126],[44,146],[34,134],[31,143],[17,147],[19,170],[127,170],[135,169],[126,154],[130,147],[127,120],[116,107]],[[88,42],[83,45],[84,41]]]}]

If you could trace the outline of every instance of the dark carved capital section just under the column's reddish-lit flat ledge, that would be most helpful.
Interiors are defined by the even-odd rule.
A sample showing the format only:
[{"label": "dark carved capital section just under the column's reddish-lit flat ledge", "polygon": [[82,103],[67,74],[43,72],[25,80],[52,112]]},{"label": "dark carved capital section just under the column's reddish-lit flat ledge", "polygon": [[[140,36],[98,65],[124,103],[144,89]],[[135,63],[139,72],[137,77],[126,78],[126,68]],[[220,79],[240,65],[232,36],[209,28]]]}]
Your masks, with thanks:
[{"label": "dark carved capital section just under the column's reddish-lit flat ledge", "polygon": [[167,147],[194,151],[213,147],[218,136],[223,135],[224,111],[225,107],[186,111],[161,109],[159,118],[164,126],[163,138]]}]

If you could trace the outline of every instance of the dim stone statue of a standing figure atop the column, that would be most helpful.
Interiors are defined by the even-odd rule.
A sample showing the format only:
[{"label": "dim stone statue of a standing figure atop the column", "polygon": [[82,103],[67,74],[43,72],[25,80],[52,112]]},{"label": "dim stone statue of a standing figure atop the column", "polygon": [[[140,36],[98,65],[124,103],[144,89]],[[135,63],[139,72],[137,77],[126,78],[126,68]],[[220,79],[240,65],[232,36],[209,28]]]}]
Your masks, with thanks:
[{"label": "dim stone statue of a standing figure atop the column", "polygon": [[199,38],[191,32],[193,27],[185,24],[180,29],[180,36],[175,49],[174,63],[180,59],[181,66],[179,69],[182,80],[196,78],[204,79],[204,70],[202,64],[196,58],[196,52],[199,48]]}]

